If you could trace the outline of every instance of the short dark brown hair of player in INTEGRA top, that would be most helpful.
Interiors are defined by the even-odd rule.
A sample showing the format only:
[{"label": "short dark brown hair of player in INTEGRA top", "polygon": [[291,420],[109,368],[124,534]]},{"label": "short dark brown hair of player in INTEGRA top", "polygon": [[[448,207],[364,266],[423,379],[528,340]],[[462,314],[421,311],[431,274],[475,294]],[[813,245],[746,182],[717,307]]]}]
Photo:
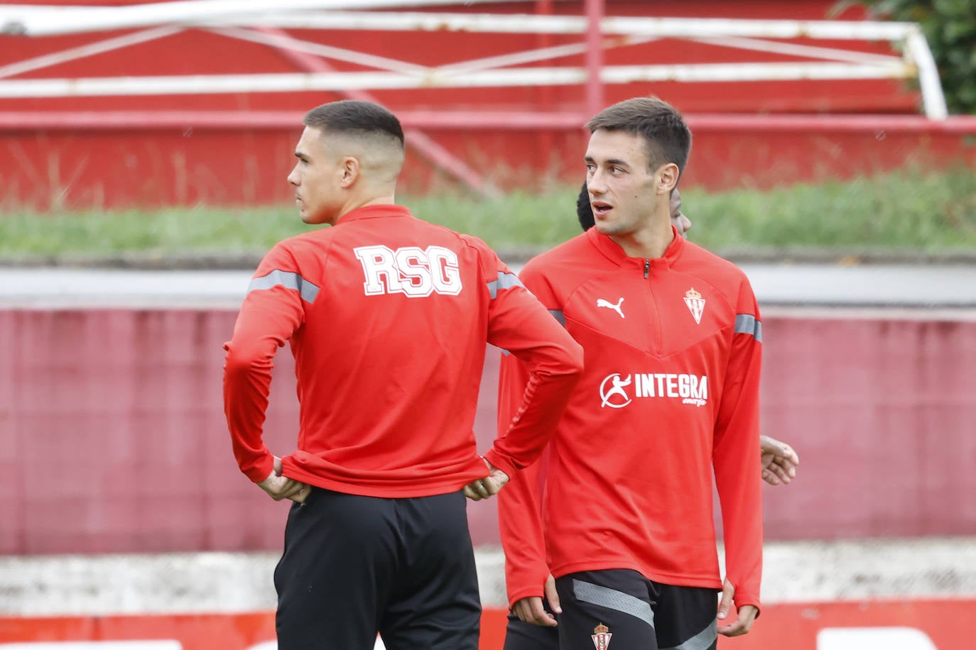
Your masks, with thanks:
[{"label": "short dark brown hair of player in INTEGRA top", "polygon": [[674,163],[680,174],[688,165],[691,131],[681,114],[658,97],[633,97],[615,103],[591,119],[587,128],[590,133],[604,129],[641,136],[652,171]]}]

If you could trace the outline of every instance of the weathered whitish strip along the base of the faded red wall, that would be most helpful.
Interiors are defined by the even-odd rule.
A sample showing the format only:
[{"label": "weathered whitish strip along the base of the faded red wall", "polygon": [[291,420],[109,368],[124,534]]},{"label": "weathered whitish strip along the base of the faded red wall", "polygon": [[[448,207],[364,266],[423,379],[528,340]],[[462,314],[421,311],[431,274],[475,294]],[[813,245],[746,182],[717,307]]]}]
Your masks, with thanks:
[{"label": "weathered whitish strip along the base of the faded red wall", "polygon": [[[763,601],[972,597],[974,542],[960,537],[769,543]],[[475,559],[482,603],[505,607],[501,550],[480,548]],[[0,557],[0,616],[273,609],[277,560],[274,553]]]}]

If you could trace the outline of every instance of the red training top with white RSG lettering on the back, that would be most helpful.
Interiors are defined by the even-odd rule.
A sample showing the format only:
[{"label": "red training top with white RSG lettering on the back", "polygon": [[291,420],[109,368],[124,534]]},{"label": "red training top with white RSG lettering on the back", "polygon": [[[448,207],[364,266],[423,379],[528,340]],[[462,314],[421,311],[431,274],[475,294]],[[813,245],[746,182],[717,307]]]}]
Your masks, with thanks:
[{"label": "red training top with white RSG lettering on the back", "polygon": [[352,210],[264,256],[224,344],[224,412],[237,463],[256,482],[272,471],[262,425],[285,341],[301,417],[283,474],[378,497],[443,494],[487,476],[472,432],[486,342],[531,374],[485,454],[509,477],[542,452],[583,360],[480,240],[399,206]]}]

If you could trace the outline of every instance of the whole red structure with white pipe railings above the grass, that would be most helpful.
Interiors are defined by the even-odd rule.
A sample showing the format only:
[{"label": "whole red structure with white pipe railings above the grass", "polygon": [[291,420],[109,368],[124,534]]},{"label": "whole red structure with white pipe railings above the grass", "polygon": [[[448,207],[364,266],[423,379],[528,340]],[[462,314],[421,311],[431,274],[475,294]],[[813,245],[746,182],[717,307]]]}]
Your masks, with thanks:
[{"label": "whole red structure with white pipe railings above the grass", "polygon": [[[976,118],[918,115],[923,97],[905,80],[886,77],[924,66],[903,60],[884,38],[829,38],[841,26],[858,31],[864,18],[863,9],[832,16],[832,0],[427,4],[437,6],[390,19],[460,22],[445,18],[436,31],[430,24],[311,30],[275,26],[268,16],[224,27],[166,23],[57,34],[43,21],[25,22],[23,29],[41,35],[0,35],[0,206],[286,203],[284,178],[304,111],[345,96],[375,98],[402,118],[410,151],[404,186],[417,192],[459,180],[487,193],[575,182],[583,175],[587,119],[602,104],[647,94],[689,116],[696,134],[689,185],[770,187],[976,161]],[[0,5],[0,21],[2,12]],[[482,25],[513,14],[543,22],[526,33]],[[8,31],[18,16],[8,19]],[[353,26],[350,20],[364,20],[342,16]],[[761,24],[755,33],[772,36],[736,36],[753,24],[735,22],[744,17]],[[643,31],[621,26],[637,20],[645,20]],[[783,38],[786,20],[808,22],[789,23],[800,36]],[[597,22],[605,35],[592,28]],[[702,25],[719,35],[655,35]],[[827,31],[803,36],[813,25]],[[749,81],[747,73],[759,77]],[[233,84],[214,92],[224,82],[198,75],[223,75]],[[502,75],[522,81],[490,85]],[[245,77],[251,86],[241,86]],[[698,78],[727,80],[694,83]],[[268,85],[281,80],[298,90],[272,92]],[[351,86],[335,90],[340,83]]]}]

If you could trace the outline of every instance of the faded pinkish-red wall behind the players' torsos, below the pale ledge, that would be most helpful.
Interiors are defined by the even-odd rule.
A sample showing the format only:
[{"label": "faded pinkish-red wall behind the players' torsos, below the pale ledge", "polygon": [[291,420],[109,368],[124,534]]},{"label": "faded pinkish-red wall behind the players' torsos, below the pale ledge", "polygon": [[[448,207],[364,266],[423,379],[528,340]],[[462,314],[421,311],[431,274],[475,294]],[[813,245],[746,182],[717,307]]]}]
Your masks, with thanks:
[{"label": "faded pinkish-red wall behind the players' torsos, below the pale ledge", "polygon": [[[0,554],[277,550],[287,506],[239,474],[222,412],[234,313],[0,311]],[[764,319],[763,431],[800,478],[767,538],[976,534],[976,322]],[[282,351],[266,431],[294,444]],[[494,436],[489,355],[475,432]],[[494,503],[472,504],[476,544]]]}]

